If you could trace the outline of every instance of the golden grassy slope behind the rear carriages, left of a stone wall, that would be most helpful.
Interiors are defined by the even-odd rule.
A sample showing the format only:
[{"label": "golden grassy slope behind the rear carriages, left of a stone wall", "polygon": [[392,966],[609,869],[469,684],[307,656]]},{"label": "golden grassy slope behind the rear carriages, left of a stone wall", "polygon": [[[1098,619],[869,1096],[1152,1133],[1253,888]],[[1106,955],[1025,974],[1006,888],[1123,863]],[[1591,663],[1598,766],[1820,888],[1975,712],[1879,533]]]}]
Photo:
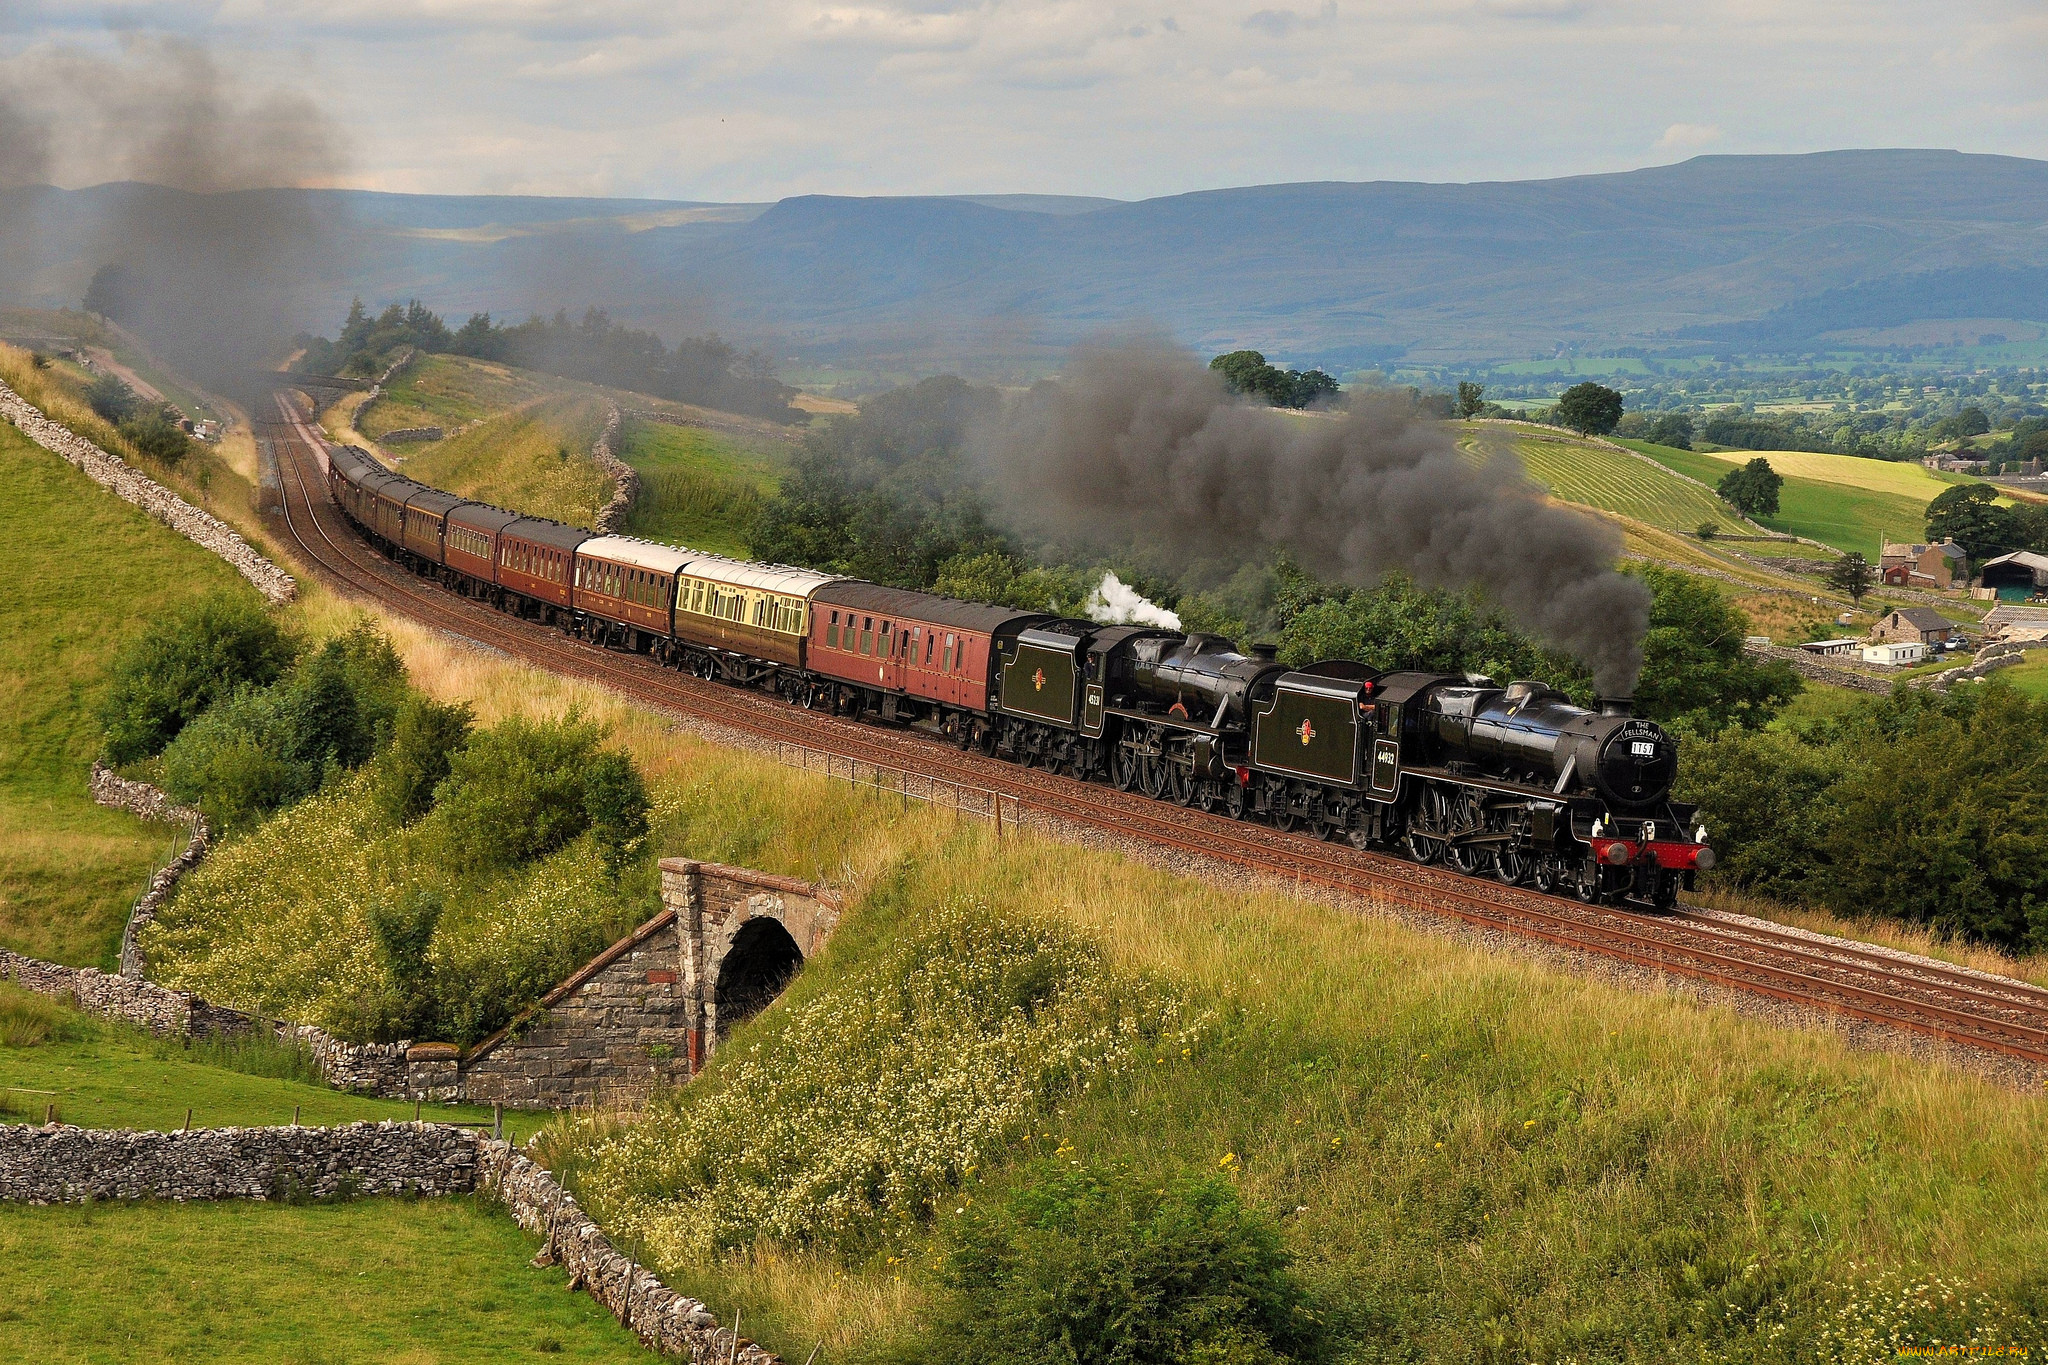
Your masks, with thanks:
[{"label": "golden grassy slope behind the rear carriages, left of a stone wall", "polygon": [[422,448],[406,460],[406,475],[461,497],[590,526],[612,495],[612,481],[590,463],[602,430],[604,399],[545,397]]}]

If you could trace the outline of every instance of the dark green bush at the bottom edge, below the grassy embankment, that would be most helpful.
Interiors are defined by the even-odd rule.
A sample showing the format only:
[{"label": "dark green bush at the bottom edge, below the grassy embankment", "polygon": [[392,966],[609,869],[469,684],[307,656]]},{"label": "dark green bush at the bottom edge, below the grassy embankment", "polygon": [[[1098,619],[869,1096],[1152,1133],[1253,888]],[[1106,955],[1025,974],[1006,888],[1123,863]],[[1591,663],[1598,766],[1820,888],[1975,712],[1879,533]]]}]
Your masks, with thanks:
[{"label": "dark green bush at the bottom edge, below the grassy embankment", "polygon": [[967,1212],[913,1359],[948,1365],[1282,1365],[1321,1355],[1270,1218],[1221,1177],[1155,1185],[1040,1166]]}]

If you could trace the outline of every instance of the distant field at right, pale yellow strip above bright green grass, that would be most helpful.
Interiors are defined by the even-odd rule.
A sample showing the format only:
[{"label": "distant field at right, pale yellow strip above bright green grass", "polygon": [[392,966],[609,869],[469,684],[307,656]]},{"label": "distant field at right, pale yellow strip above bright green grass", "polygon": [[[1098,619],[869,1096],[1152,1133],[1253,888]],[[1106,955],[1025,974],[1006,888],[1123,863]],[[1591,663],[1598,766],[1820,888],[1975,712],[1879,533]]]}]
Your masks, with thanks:
[{"label": "distant field at right, pale yellow strip above bright green grass", "polygon": [[[1872,563],[1878,559],[1880,540],[1921,538],[1927,532],[1927,503],[1948,487],[1933,471],[1919,465],[1860,460],[1847,454],[1798,450],[1704,454],[1647,442],[1626,444],[1704,483],[1714,483],[1761,454],[1786,479],[1778,493],[1778,514],[1757,518],[1763,526],[1808,536],[1843,553],[1858,551]],[[1808,473],[1792,473],[1794,467]]]}]

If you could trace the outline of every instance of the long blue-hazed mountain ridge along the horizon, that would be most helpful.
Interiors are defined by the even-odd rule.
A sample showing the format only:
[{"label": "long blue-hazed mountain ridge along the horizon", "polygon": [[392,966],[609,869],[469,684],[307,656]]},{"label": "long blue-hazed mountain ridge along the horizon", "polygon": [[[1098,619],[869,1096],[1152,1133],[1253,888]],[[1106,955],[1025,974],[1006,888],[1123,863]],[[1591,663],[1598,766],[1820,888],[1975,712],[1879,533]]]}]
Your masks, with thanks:
[{"label": "long blue-hazed mountain ridge along the horizon", "polygon": [[[0,231],[43,223],[37,258],[0,268],[0,289],[76,301],[61,291],[80,284],[78,244],[121,194],[172,192],[0,192]],[[352,293],[418,295],[451,315],[596,303],[778,356],[989,375],[1042,370],[1075,340],[1130,325],[1352,368],[1686,338],[1796,348],[1917,317],[2048,321],[2048,162],[1958,151],[1137,203],[311,194],[332,235],[330,307]]]}]

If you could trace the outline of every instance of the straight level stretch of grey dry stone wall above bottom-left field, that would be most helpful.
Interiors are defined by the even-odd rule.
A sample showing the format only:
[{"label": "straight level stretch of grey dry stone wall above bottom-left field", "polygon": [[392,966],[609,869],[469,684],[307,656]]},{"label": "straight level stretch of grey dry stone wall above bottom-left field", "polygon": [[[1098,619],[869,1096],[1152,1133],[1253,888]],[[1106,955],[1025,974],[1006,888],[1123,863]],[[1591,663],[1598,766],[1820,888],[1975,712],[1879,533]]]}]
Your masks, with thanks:
[{"label": "straight level stretch of grey dry stone wall above bottom-left field", "polygon": [[102,1132],[0,1126],[0,1199],[274,1199],[475,1189],[477,1138],[440,1124]]}]

